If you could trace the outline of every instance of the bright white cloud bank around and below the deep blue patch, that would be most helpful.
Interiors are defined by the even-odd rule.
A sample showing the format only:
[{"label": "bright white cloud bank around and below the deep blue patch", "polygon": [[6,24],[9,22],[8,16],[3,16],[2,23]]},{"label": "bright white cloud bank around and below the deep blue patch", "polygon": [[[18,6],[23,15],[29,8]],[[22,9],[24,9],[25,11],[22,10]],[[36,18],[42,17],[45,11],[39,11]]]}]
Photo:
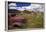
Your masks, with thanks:
[{"label": "bright white cloud bank around and below the deep blue patch", "polygon": [[[11,5],[13,7],[10,7]],[[15,3],[9,4],[9,9],[17,9],[17,10],[20,10],[20,11],[23,11],[23,10],[32,10],[32,11],[41,11],[41,12],[44,12],[44,8],[40,4],[31,4],[29,6],[23,6],[23,7],[14,7],[14,6],[17,6],[17,5]]]}]

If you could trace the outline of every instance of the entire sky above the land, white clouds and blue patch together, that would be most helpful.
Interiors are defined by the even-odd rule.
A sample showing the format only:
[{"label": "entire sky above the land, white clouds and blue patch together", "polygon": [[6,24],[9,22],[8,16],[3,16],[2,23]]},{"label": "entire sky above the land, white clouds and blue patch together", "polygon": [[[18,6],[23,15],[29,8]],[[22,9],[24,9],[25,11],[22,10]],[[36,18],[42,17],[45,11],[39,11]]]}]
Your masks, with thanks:
[{"label": "entire sky above the land, white clouds and blue patch together", "polygon": [[17,10],[32,10],[32,11],[44,11],[44,5],[41,4],[31,4],[31,3],[10,3],[9,9]]}]

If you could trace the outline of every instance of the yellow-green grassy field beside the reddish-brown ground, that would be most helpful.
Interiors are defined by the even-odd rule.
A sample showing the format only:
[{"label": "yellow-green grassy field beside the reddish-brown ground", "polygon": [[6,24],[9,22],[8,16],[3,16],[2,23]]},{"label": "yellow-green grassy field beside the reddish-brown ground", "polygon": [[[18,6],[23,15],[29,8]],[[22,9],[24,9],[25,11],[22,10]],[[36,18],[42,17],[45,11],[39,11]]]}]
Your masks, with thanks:
[{"label": "yellow-green grassy field beside the reddish-brown ground", "polygon": [[37,12],[36,14],[21,13],[18,16],[23,16],[27,20],[26,24],[22,28],[43,28],[43,13]]}]

